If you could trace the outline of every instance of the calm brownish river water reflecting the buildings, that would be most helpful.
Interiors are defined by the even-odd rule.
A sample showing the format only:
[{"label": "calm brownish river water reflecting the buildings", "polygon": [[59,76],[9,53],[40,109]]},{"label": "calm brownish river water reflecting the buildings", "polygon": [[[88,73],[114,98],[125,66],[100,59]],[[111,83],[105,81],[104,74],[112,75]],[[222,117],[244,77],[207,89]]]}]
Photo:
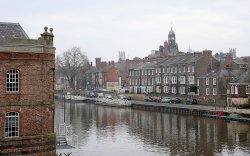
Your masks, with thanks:
[{"label": "calm brownish river water reflecting the buildings", "polygon": [[[71,115],[70,115],[71,114]],[[83,156],[250,155],[250,124],[87,103],[66,103]],[[56,102],[56,125],[64,122]]]}]

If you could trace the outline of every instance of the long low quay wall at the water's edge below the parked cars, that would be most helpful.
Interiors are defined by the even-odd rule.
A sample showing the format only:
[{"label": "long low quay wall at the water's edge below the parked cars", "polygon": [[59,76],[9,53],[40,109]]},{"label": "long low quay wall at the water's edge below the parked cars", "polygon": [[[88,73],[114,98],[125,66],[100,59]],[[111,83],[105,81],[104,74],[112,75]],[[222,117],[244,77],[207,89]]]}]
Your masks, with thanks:
[{"label": "long low quay wall at the water's edge below the parked cars", "polygon": [[[250,123],[249,109],[224,108],[219,106],[204,105],[165,104],[143,101],[132,101],[131,107],[133,109],[141,109],[146,111],[190,114],[214,119],[233,120]],[[231,117],[231,114],[238,114],[240,115],[240,117]]]}]

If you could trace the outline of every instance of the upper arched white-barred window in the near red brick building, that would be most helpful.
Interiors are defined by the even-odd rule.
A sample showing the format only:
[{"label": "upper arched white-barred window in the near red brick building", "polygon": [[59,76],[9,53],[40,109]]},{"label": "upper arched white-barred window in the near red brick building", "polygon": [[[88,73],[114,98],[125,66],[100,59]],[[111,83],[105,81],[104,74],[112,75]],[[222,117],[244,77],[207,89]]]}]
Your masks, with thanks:
[{"label": "upper arched white-barred window in the near red brick building", "polygon": [[10,69],[7,72],[6,89],[7,92],[18,92],[19,91],[19,72],[16,69]]}]

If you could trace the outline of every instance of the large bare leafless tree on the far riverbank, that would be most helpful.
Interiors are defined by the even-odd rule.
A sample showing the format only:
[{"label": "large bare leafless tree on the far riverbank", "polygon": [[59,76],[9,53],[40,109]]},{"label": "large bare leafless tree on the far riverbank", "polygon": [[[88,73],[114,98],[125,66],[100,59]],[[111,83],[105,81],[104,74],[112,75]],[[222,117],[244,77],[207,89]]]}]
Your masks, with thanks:
[{"label": "large bare leafless tree on the far riverbank", "polygon": [[76,89],[76,78],[87,70],[88,57],[80,47],[72,47],[56,58],[56,68],[63,74],[71,88]]}]

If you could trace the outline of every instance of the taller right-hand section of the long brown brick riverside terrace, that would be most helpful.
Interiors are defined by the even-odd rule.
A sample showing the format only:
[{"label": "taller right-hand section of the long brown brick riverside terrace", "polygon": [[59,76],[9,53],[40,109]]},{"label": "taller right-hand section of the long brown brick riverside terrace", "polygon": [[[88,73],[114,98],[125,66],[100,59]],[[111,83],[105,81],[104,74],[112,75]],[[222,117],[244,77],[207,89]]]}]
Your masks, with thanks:
[{"label": "taller right-hand section of the long brown brick riverside terrace", "polygon": [[217,70],[218,66],[210,50],[168,57],[155,65],[155,92],[197,94],[197,77]]}]

